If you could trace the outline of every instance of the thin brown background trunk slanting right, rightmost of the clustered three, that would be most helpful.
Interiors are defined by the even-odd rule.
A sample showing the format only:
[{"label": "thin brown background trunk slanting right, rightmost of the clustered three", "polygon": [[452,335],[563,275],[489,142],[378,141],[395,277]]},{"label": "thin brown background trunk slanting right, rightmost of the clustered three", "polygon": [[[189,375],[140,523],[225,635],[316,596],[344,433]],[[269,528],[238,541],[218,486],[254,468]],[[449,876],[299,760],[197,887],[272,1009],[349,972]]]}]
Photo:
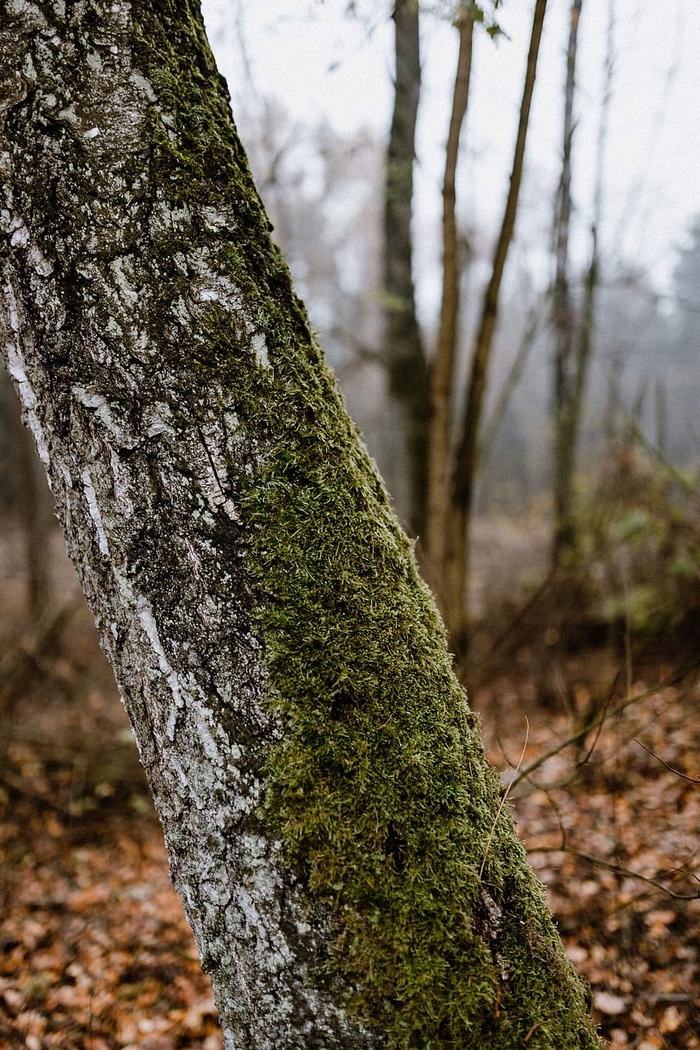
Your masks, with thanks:
[{"label": "thin brown background trunk slanting right, rightmost of the clustered three", "polygon": [[480,323],[471,357],[464,415],[454,458],[445,570],[445,614],[452,648],[458,658],[464,656],[468,639],[469,616],[467,600],[471,561],[470,530],[474,483],[479,467],[479,435],[484,408],[484,396],[486,394],[486,380],[499,315],[501,284],[515,230],[530,107],[537,72],[537,57],[546,8],[547,0],[536,0],[510,186],[506,198],[501,232],[493,253],[491,277],[484,293]]}]

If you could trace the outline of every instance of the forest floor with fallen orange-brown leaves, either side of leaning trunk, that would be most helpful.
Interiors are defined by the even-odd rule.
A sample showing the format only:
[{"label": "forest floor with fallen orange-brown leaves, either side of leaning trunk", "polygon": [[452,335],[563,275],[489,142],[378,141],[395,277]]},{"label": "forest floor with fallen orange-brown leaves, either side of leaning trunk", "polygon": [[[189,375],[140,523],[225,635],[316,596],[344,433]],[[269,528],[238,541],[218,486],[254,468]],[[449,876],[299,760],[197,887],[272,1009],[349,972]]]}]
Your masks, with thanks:
[{"label": "forest floor with fallen orange-brown leaves, either side of leaning trunk", "polygon": [[[63,618],[23,632],[16,540],[0,541],[0,1046],[219,1050],[89,614],[58,558]],[[559,640],[522,622],[480,638],[488,752],[601,1034],[698,1050],[700,675]]]}]

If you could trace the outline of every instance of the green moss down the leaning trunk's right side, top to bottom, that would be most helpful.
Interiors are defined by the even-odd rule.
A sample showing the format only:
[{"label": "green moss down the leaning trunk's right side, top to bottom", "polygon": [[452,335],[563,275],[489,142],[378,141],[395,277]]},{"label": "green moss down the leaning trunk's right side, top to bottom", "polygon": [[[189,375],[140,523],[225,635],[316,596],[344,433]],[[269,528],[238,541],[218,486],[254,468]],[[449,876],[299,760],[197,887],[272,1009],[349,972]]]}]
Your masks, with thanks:
[{"label": "green moss down the leaning trunk's right side, top to bottom", "polygon": [[271,362],[209,310],[196,368],[259,449],[237,486],[283,727],[263,815],[333,917],[323,980],[389,1047],[596,1047],[410,543],[270,242],[196,9],[152,8],[152,170],[173,202],[235,201],[211,250]]}]

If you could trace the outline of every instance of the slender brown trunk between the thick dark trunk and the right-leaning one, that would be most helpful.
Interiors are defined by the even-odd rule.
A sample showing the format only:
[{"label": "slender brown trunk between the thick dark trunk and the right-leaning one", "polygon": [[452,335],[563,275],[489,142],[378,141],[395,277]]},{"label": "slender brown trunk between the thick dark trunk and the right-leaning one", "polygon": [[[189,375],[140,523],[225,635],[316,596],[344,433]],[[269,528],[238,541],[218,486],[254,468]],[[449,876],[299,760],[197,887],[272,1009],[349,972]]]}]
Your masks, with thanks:
[{"label": "slender brown trunk between the thick dark trunk and the right-leaning one", "polygon": [[460,51],[452,93],[452,112],[445,150],[443,182],[443,291],[438,345],[430,373],[430,441],[428,457],[427,565],[441,601],[445,600],[445,555],[450,510],[452,395],[460,321],[461,260],[457,230],[457,165],[462,125],[469,103],[473,18],[461,15]]}]

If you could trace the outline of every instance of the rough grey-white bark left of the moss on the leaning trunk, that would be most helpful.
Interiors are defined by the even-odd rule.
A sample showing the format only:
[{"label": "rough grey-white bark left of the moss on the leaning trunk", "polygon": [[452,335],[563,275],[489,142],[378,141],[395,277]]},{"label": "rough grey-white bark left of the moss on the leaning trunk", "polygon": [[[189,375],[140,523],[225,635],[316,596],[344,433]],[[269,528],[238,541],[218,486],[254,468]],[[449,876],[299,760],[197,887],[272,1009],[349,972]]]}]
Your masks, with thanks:
[{"label": "rough grey-white bark left of the moss on the leaning trunk", "polygon": [[321,911],[310,923],[256,815],[279,729],[262,707],[227,480],[256,449],[220,381],[193,374],[210,303],[235,316],[256,368],[264,360],[264,336],[214,247],[240,226],[241,206],[181,203],[149,184],[155,94],[133,65],[129,5],[52,7],[3,13],[8,370],[127,705],[228,1045],[325,1046],[338,1031],[370,1045],[307,980],[304,957],[327,940],[327,922]]}]

